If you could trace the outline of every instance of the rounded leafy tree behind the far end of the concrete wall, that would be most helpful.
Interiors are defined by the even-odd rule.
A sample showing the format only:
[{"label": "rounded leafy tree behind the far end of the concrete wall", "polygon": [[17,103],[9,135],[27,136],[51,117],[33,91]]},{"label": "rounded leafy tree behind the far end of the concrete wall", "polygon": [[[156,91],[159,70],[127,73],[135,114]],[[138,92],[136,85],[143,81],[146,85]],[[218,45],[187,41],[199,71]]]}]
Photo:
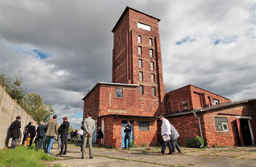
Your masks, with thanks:
[{"label": "rounded leafy tree behind the far end of the concrete wall", "polygon": [[43,98],[36,93],[28,93],[22,100],[21,106],[37,123],[50,119],[54,114],[52,104],[44,104]]}]

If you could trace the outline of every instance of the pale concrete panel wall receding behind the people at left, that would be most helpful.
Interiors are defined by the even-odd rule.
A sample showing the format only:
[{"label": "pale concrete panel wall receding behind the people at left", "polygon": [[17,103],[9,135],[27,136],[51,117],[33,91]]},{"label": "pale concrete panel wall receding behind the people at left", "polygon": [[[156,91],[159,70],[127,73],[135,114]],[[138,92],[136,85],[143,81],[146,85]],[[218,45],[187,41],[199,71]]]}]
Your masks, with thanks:
[{"label": "pale concrete panel wall receding behind the people at left", "polygon": [[34,120],[19,104],[17,104],[16,100],[11,98],[5,91],[5,87],[0,85],[0,149],[4,146],[11,146],[11,139],[7,138],[7,133],[9,126],[16,120],[17,116],[21,117],[20,121],[22,127],[20,128],[20,131],[22,136],[19,139],[21,144],[25,126],[29,121],[33,122]]}]

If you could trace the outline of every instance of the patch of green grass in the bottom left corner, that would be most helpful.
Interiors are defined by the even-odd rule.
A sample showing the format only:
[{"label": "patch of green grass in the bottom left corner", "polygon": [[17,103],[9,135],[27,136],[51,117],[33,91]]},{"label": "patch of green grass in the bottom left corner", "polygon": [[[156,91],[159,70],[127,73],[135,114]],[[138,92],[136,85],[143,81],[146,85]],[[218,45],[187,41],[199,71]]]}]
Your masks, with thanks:
[{"label": "patch of green grass in the bottom left corner", "polygon": [[17,146],[16,149],[0,150],[0,166],[47,167],[41,161],[55,160],[54,157],[47,155],[42,150],[35,149],[33,146]]}]

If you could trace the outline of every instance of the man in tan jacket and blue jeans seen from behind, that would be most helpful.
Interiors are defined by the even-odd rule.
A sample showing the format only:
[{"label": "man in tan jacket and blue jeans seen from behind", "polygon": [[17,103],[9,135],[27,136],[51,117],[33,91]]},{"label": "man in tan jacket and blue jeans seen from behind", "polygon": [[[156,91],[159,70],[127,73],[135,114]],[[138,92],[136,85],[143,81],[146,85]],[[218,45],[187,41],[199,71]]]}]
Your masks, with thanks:
[{"label": "man in tan jacket and blue jeans seen from behind", "polygon": [[56,121],[57,115],[53,115],[52,118],[53,119],[50,119],[46,125],[46,148],[44,150],[46,154],[50,154],[54,137],[58,132],[58,122]]}]

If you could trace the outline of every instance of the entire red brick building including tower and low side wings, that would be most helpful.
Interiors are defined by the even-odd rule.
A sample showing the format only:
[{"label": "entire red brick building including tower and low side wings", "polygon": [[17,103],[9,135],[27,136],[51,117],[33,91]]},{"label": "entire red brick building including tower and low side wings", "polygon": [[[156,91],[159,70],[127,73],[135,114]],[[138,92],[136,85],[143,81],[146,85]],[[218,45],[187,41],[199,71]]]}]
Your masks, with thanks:
[{"label": "entire red brick building including tower and low side wings", "polygon": [[[103,144],[123,147],[124,127],[129,120],[136,145],[156,145],[162,139],[159,115],[165,115],[176,127],[181,145],[197,135],[209,147],[254,144],[255,100],[232,103],[193,85],[165,94],[159,21],[126,7],[112,30],[112,83],[98,82],[82,99],[84,118],[92,112],[96,127],[104,133]],[[246,126],[247,130],[239,130]],[[244,142],[248,129],[252,140]]]}]

